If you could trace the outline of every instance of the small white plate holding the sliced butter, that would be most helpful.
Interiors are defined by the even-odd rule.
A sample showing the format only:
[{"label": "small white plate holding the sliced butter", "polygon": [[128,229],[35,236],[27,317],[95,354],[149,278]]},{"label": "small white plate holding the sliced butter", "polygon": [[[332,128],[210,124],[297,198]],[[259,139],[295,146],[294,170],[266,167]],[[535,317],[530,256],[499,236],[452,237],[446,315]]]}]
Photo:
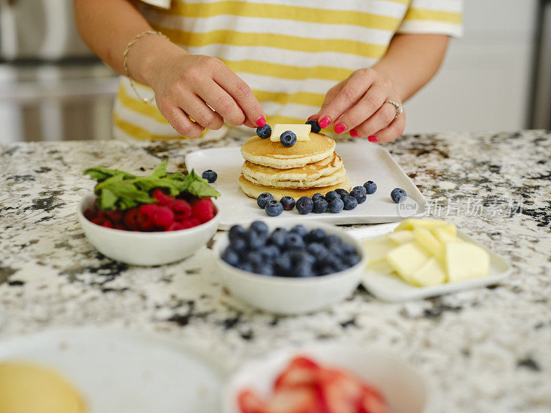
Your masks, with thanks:
[{"label": "small white plate holding the sliced butter", "polygon": [[[397,226],[397,223],[368,226],[366,228],[351,229],[350,234],[362,241],[371,240],[371,238],[379,237],[391,233]],[[375,271],[366,271],[364,275],[365,288],[375,297],[384,301],[408,301],[412,299],[423,299],[426,297],[435,297],[436,295],[444,295],[456,293],[457,291],[470,290],[484,286],[498,284],[507,277],[511,271],[511,266],[495,253],[492,253],[484,245],[475,242],[465,233],[457,230],[457,237],[461,240],[477,244],[484,248],[490,254],[490,277],[471,279],[464,282],[455,282],[450,284],[441,284],[432,287],[416,287],[403,282],[394,275],[377,273]]]}]

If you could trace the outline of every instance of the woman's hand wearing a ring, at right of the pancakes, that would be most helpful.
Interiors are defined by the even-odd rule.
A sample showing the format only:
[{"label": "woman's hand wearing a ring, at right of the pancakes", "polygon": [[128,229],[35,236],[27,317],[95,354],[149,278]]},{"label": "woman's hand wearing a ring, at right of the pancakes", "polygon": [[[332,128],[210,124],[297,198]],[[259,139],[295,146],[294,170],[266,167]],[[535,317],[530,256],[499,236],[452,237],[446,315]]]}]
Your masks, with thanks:
[{"label": "woman's hand wearing a ring, at right of the pancakes", "polygon": [[406,116],[396,117],[388,100],[402,103],[393,83],[373,68],[360,69],[331,87],[322,109],[310,119],[318,120],[322,128],[333,124],[337,134],[349,131],[353,138],[390,142],[404,133]]}]

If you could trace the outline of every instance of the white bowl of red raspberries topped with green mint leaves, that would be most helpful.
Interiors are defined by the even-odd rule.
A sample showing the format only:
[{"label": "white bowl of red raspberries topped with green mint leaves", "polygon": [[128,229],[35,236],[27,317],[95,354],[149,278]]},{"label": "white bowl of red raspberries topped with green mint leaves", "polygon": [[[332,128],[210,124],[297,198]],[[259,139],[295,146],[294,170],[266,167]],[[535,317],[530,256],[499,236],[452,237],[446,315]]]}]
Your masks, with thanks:
[{"label": "white bowl of red raspberries topped with green mint leaves", "polygon": [[79,204],[79,222],[113,260],[143,266],[183,260],[218,229],[219,193],[194,171],[167,173],[163,161],[149,176],[104,167],[84,173],[97,183]]}]

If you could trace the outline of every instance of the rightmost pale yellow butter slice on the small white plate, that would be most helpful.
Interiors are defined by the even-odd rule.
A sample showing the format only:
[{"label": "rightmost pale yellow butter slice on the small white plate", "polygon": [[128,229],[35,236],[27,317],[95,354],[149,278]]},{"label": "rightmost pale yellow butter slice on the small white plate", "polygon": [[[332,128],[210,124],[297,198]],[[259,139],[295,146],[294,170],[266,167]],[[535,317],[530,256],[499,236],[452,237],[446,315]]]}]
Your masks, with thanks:
[{"label": "rightmost pale yellow butter slice on the small white plate", "polygon": [[448,282],[488,277],[490,256],[483,248],[470,242],[448,242],[446,273]]}]

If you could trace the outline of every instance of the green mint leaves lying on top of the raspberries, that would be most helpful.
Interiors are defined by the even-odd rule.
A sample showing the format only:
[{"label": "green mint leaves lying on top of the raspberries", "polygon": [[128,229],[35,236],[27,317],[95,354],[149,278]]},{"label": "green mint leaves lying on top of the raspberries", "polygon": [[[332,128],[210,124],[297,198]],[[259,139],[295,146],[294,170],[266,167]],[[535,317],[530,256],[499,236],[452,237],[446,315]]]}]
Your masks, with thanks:
[{"label": "green mint leaves lying on top of the raspberries", "polygon": [[183,192],[198,198],[220,196],[220,193],[195,171],[191,171],[187,176],[183,173],[167,173],[167,160],[160,162],[149,176],[134,176],[125,171],[104,167],[86,169],[83,173],[98,181],[94,192],[98,196],[98,208],[103,211],[130,209],[141,204],[157,202],[149,196],[156,188],[168,190],[171,196]]}]

